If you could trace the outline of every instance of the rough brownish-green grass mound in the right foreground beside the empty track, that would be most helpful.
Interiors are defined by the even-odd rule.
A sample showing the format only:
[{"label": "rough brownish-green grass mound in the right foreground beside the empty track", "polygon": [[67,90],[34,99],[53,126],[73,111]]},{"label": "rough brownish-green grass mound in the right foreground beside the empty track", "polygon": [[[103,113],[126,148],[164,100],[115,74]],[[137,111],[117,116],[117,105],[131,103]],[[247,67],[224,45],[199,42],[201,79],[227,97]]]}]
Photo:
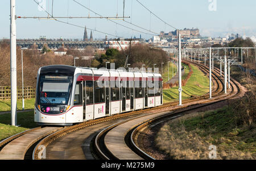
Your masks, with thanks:
[{"label": "rough brownish-green grass mound in the right foreground beside the empty track", "polygon": [[216,145],[217,159],[256,159],[255,133],[255,127],[237,125],[232,107],[225,106],[166,123],[156,141],[174,159],[208,159],[209,145]]}]

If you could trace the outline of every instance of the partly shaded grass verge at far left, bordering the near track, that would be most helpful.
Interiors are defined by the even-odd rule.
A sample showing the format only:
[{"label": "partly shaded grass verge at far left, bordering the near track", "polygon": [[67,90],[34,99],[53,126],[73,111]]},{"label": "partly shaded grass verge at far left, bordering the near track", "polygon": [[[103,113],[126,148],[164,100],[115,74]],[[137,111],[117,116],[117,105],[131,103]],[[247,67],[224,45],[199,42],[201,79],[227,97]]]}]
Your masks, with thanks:
[{"label": "partly shaded grass verge at far left, bordering the near track", "polygon": [[34,111],[17,113],[17,124],[19,127],[11,126],[11,114],[0,115],[0,140],[11,135],[36,127],[34,122]]}]

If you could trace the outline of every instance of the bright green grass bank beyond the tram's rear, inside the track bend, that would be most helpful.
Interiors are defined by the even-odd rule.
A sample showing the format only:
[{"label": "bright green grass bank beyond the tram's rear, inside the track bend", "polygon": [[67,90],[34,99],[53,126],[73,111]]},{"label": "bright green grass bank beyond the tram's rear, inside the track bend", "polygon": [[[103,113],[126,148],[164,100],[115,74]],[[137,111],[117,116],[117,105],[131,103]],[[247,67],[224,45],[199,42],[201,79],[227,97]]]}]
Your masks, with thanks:
[{"label": "bright green grass bank beyond the tram's rear, inside the track bend", "polygon": [[[186,66],[186,72],[189,72],[188,66]],[[190,98],[191,95],[204,95],[209,92],[209,78],[204,75],[199,68],[191,65],[193,73],[189,78],[187,84],[182,87],[182,99]],[[179,87],[172,87],[171,89],[163,90],[163,102],[173,102],[179,99]]]}]

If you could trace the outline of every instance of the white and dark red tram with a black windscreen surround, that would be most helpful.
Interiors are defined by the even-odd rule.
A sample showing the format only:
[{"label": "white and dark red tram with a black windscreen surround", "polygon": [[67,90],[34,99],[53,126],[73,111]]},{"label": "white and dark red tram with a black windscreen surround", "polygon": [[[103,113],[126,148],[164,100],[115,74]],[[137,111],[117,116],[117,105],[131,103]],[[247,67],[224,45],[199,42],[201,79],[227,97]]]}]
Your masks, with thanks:
[{"label": "white and dark red tram with a black windscreen surround", "polygon": [[36,81],[35,116],[41,125],[67,126],[163,105],[158,73],[43,66]]}]

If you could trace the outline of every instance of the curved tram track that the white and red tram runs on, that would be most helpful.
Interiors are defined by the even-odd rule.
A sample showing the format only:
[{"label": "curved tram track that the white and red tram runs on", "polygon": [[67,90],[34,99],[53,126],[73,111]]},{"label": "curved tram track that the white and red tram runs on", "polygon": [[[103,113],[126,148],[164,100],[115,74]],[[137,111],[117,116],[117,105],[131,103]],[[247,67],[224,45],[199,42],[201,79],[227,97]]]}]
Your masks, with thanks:
[{"label": "curved tram track that the white and red tram runs on", "polygon": [[[207,74],[206,66],[199,66],[199,68],[201,70],[203,70],[203,72],[205,72],[205,74]],[[212,93],[213,97],[214,97],[214,95],[221,94],[224,91],[223,81],[217,77],[217,74],[215,76],[213,76],[213,85],[214,85],[213,93]],[[207,99],[207,98],[208,98],[207,94],[203,95],[201,97],[193,97],[191,99],[184,100],[183,104],[191,103],[191,102],[198,102],[200,99]],[[63,127],[59,127],[59,128],[47,127],[49,130],[46,132],[42,131],[43,128],[41,128],[41,127],[34,128],[34,129],[31,129],[28,131],[24,131],[24,132],[21,132],[20,134],[16,134],[16,135],[11,136],[11,137],[0,142],[0,159],[40,159],[39,156],[42,154],[42,148],[40,148],[42,146],[40,146],[40,145],[44,145],[44,147],[47,147],[53,141],[59,139],[60,137],[62,137],[64,135],[67,135],[71,132],[81,130],[82,128],[89,127],[89,126],[96,126],[97,124],[105,124],[106,125],[106,122],[111,122],[113,120],[118,120],[118,119],[125,120],[124,118],[129,118],[129,117],[132,118],[132,117],[134,117],[134,115],[139,115],[139,114],[143,114],[143,113],[144,114],[146,113],[148,115],[152,111],[154,112],[157,110],[164,110],[170,106],[176,106],[177,104],[178,104],[177,102],[166,103],[163,106],[158,106],[158,107],[155,107],[154,109],[131,111],[131,112],[127,112],[124,114],[109,116],[107,118],[89,120],[88,122],[76,124],[76,125],[70,126],[70,127],[64,127],[64,128]],[[182,108],[182,107],[179,107],[179,108]],[[140,116],[138,116],[138,117],[140,118]],[[42,131],[42,133],[40,133],[40,134],[38,133],[38,135],[36,135],[36,132],[40,132],[40,130]],[[44,128],[44,130],[46,130],[46,128]],[[31,134],[32,135],[34,134],[34,137],[32,139],[29,139],[28,137],[31,136]],[[20,146],[14,145],[14,144],[19,143],[21,140],[24,142],[27,142],[27,143],[23,143],[23,146],[22,145],[20,145]],[[102,141],[102,142],[104,143],[104,141]],[[100,144],[102,144],[102,142]],[[13,145],[13,146],[11,146],[11,145]],[[9,151],[10,147],[13,149],[12,150],[13,157],[14,157],[15,153],[20,153],[22,155],[19,155],[19,157],[16,155],[16,157],[14,157],[14,158],[12,158],[11,155],[5,156],[5,154],[10,153],[10,151]],[[2,156],[2,158],[1,158],[1,156]],[[97,156],[97,155],[94,155],[94,156]],[[110,159],[112,157],[113,156],[110,156]],[[101,158],[101,157],[99,157],[99,158]]]}]

